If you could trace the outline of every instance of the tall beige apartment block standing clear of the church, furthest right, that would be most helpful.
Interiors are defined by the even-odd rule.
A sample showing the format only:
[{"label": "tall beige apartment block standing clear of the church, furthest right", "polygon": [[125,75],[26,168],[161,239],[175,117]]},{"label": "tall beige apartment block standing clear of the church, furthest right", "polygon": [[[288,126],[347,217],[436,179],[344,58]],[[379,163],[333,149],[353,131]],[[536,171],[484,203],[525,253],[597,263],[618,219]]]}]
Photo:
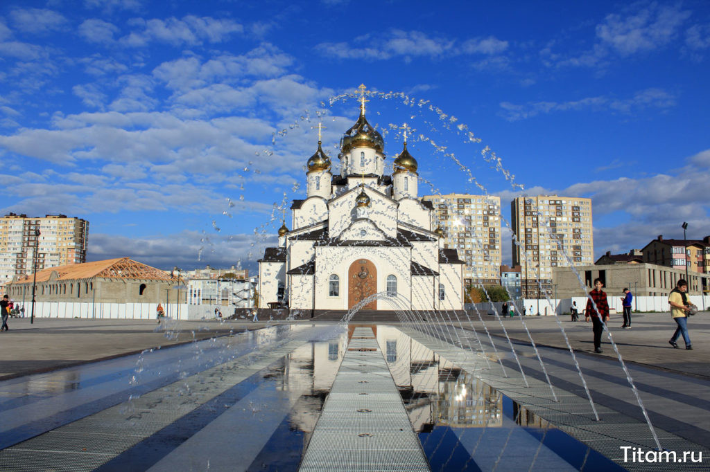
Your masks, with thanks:
[{"label": "tall beige apartment block standing clear of the church, furthest right", "polygon": [[552,268],[594,263],[591,199],[557,195],[518,197],[510,203],[513,265],[520,265],[523,298],[554,295]]}]

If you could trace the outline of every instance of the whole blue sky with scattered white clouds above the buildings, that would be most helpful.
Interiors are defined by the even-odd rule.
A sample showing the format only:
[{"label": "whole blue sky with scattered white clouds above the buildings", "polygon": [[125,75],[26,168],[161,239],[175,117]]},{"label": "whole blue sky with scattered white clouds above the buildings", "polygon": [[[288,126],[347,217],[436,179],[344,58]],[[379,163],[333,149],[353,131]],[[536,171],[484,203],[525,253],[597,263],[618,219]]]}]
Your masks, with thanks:
[{"label": "whole blue sky with scattered white clouds above the buildings", "polygon": [[1,212],[89,220],[89,260],[253,268],[364,83],[420,193],[591,197],[597,256],[710,234],[706,1],[197,3],[0,5]]}]

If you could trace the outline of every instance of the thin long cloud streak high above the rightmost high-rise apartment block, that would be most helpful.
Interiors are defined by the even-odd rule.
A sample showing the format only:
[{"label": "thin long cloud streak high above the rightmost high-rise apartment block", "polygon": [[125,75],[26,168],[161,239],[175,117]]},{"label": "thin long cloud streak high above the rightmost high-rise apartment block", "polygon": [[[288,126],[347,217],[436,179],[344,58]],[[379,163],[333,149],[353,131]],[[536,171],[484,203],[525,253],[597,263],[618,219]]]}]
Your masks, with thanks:
[{"label": "thin long cloud streak high above the rightmost high-rise apartment block", "polygon": [[633,115],[639,111],[655,108],[665,110],[676,105],[675,96],[661,89],[645,89],[638,91],[630,99],[614,99],[608,96],[594,96],[584,99],[555,102],[537,101],[516,105],[508,101],[501,102],[502,116],[508,121],[524,120],[545,113],[559,111],[615,111],[626,115]]}]

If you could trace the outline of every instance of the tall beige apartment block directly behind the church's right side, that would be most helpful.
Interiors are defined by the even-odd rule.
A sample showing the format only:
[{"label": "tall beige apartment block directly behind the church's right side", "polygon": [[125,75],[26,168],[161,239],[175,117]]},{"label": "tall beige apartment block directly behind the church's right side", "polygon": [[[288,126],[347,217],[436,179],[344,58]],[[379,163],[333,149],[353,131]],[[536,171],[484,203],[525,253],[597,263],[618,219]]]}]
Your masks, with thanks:
[{"label": "tall beige apartment block directly behind the church's right side", "polygon": [[501,198],[468,193],[426,195],[444,230],[444,247],[458,249],[464,284],[501,283]]}]

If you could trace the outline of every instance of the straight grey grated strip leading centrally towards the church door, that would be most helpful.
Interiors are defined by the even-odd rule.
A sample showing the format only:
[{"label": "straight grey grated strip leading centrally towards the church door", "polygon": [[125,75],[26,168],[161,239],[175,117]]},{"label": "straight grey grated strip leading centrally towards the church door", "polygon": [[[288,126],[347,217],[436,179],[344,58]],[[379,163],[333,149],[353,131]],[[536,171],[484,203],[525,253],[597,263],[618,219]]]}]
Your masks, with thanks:
[{"label": "straight grey grated strip leading centrally towards the church door", "polygon": [[370,327],[354,330],[299,470],[430,470]]}]

